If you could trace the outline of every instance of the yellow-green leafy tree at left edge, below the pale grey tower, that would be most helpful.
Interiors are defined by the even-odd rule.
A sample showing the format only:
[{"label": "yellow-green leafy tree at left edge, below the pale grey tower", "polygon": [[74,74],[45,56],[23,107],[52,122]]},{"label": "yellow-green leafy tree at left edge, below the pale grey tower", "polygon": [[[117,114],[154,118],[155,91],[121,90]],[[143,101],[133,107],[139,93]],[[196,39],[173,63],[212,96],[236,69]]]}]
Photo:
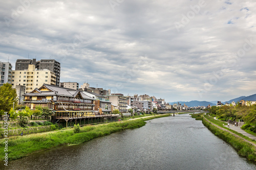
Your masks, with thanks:
[{"label": "yellow-green leafy tree at left edge, below the pale grey tower", "polygon": [[12,85],[6,83],[0,87],[0,110],[9,112],[11,108],[17,105],[16,89],[12,89]]}]

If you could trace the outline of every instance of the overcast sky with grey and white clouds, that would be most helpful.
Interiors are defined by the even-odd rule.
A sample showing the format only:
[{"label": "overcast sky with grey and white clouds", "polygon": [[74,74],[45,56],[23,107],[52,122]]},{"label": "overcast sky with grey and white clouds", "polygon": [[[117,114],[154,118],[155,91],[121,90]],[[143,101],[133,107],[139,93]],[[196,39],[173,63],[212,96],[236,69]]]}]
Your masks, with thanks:
[{"label": "overcast sky with grey and white clouds", "polygon": [[254,0],[2,1],[0,61],[52,56],[61,82],[226,101],[256,93],[255,11]]}]

